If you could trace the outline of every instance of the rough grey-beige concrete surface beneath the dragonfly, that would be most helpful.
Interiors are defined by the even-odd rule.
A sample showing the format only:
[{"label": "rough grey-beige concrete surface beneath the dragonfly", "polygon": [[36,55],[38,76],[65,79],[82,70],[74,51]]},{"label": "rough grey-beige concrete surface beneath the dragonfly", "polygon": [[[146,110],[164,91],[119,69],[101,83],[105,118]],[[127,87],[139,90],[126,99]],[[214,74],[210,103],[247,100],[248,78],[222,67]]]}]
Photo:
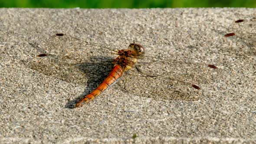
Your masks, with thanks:
[{"label": "rough grey-beige concrete surface beneath the dragonfly", "polygon": [[[256,23],[232,23],[254,18],[255,11],[0,9],[0,143],[256,143],[255,44],[219,40],[230,32],[254,33]],[[89,105],[69,108],[92,90],[89,84],[76,82],[76,73],[69,74],[75,78],[70,82],[31,65],[38,54],[72,51],[48,46],[53,46],[55,33],[121,49],[137,42],[149,53],[210,63],[219,70],[167,65],[168,73],[175,70],[174,76],[184,80],[195,70],[187,80],[195,79],[203,91],[196,101],[146,98],[109,88]]]}]

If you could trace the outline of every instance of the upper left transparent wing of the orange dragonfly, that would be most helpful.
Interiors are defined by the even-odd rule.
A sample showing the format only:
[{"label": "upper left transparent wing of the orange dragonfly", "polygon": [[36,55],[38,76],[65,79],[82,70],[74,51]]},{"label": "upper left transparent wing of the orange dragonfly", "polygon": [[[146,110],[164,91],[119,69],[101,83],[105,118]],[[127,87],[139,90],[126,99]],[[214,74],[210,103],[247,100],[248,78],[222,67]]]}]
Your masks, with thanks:
[{"label": "upper left transparent wing of the orange dragonfly", "polygon": [[100,43],[89,43],[88,41],[78,39],[63,34],[62,36],[50,36],[44,44],[46,52],[69,56],[74,58],[87,59],[89,56],[94,58],[116,57],[118,50],[111,45]]}]

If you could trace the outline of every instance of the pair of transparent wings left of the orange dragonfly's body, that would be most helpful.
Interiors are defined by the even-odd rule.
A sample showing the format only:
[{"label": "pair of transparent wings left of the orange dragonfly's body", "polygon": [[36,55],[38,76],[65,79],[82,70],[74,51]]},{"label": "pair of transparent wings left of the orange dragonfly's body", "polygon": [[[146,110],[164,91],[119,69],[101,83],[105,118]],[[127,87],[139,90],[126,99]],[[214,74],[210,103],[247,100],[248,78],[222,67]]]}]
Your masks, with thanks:
[{"label": "pair of transparent wings left of the orange dragonfly's body", "polygon": [[[108,75],[117,49],[89,43],[65,34],[56,34],[43,43],[44,53],[29,62],[29,67],[67,82],[86,84]],[[50,53],[50,54],[49,54]]]}]

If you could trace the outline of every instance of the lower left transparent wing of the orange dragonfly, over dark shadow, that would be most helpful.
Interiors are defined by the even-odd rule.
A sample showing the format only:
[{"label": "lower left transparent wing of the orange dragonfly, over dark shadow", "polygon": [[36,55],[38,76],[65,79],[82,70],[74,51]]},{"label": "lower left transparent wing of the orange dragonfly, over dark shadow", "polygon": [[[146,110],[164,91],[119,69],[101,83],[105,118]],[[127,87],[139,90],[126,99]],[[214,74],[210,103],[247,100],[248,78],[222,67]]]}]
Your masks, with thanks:
[{"label": "lower left transparent wing of the orange dragonfly, over dark shadow", "polygon": [[87,84],[87,81],[100,81],[108,75],[113,64],[111,59],[69,59],[66,57],[46,56],[36,57],[28,66],[45,75],[73,82]]}]

